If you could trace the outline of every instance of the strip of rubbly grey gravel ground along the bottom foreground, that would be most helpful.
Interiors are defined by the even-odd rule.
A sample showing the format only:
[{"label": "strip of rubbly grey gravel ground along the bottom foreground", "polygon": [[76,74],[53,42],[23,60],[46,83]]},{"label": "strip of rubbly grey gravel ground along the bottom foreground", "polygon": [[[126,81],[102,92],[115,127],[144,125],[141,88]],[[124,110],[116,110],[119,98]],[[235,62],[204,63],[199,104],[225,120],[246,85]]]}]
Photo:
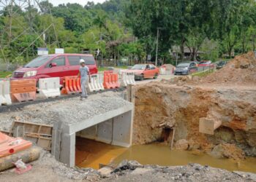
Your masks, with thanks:
[{"label": "strip of rubbly grey gravel ground along the bottom foreground", "polygon": [[23,175],[14,170],[0,173],[0,181],[256,181],[253,173],[229,172],[208,166],[189,164],[179,167],[140,165],[134,161],[121,162],[116,168],[102,170],[70,168],[57,162],[45,151],[31,162],[33,169]]}]

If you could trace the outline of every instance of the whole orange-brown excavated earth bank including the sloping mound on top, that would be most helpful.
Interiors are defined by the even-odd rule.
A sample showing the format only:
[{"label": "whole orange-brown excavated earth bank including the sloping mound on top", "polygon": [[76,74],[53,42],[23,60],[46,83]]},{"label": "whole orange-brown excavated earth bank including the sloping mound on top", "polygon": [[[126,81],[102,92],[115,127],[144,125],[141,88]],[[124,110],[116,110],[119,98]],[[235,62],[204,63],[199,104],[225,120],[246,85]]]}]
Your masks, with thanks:
[{"label": "whole orange-brown excavated earth bank including the sloping mound on top", "polygon": [[[133,143],[161,141],[166,128],[173,128],[174,137],[164,138],[176,148],[219,158],[256,157],[255,78],[255,54],[248,52],[203,78],[179,76],[135,87]],[[210,131],[202,127],[208,121]]]}]

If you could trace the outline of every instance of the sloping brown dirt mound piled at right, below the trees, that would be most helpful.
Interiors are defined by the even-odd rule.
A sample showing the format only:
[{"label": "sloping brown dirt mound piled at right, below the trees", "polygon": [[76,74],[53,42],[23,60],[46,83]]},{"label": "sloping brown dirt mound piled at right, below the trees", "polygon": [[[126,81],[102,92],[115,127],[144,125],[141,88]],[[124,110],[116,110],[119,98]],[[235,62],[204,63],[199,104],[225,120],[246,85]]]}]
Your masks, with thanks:
[{"label": "sloping brown dirt mound piled at right, below the trees", "polygon": [[201,82],[212,84],[256,84],[256,58],[254,52],[238,55],[227,65],[203,78]]}]

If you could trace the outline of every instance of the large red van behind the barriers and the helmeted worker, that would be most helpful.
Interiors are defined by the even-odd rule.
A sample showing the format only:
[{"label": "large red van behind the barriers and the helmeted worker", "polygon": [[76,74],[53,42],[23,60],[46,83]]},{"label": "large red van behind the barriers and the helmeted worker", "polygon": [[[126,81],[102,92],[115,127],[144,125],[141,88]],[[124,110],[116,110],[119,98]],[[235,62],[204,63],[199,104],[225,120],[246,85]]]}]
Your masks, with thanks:
[{"label": "large red van behind the barriers and the helmeted worker", "polygon": [[93,55],[56,54],[42,55],[25,66],[18,68],[12,74],[12,79],[43,79],[60,77],[61,84],[64,76],[77,76],[80,68],[79,61],[86,61],[90,74],[97,74],[98,69]]}]

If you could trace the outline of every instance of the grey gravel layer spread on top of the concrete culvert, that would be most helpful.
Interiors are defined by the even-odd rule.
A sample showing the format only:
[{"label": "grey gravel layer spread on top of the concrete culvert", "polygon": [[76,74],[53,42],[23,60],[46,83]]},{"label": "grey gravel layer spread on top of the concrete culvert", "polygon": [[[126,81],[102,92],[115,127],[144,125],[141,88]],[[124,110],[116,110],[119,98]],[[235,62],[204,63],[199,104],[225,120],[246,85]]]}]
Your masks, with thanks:
[{"label": "grey gravel layer spread on top of the concrete culvert", "polygon": [[35,103],[1,113],[0,130],[10,130],[14,121],[53,124],[62,121],[67,124],[90,119],[132,103],[121,98],[120,92],[103,92],[91,95],[86,100],[79,97]]}]

